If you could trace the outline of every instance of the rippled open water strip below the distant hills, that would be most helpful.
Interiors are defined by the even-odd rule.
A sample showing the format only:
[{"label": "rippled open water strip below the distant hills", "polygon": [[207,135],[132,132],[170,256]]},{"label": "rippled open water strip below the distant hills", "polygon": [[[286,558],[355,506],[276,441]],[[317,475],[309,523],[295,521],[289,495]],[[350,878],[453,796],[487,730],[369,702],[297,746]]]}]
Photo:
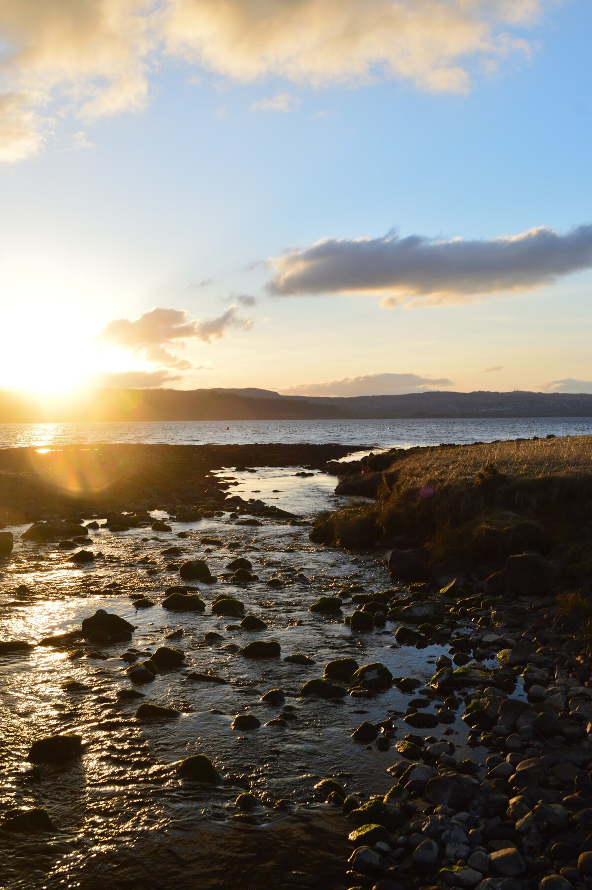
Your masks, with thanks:
[{"label": "rippled open water strip below the distant hills", "polygon": [[242,420],[113,424],[0,424],[0,448],[167,442],[175,445],[252,442],[339,442],[370,448],[464,444],[532,436],[592,435],[592,417],[421,418],[401,420]]}]

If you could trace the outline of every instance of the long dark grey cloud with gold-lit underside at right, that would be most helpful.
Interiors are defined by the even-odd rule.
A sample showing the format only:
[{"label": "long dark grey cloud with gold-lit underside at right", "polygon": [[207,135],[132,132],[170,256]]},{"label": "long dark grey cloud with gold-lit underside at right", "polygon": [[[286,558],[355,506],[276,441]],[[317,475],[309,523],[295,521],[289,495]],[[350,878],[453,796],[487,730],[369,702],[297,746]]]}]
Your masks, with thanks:
[{"label": "long dark grey cloud with gold-lit underside at right", "polygon": [[530,290],[592,267],[592,225],[564,235],[540,227],[491,240],[423,235],[325,239],[269,261],[273,295],[366,293],[387,308],[466,303],[500,291]]}]

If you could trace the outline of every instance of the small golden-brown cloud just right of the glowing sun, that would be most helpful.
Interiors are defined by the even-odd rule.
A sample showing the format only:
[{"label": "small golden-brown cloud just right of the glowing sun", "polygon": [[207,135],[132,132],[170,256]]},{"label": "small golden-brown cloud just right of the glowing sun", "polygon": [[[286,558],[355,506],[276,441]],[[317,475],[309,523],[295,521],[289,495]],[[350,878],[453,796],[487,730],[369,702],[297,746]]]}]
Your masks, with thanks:
[{"label": "small golden-brown cloud just right of the glowing sun", "polygon": [[134,355],[158,364],[163,368],[188,370],[191,362],[180,359],[166,350],[170,344],[184,345],[187,340],[197,338],[211,343],[223,336],[229,328],[248,330],[253,325],[250,319],[239,315],[238,306],[231,306],[215,319],[200,321],[188,320],[183,309],[151,309],[139,319],[116,319],[109,321],[97,336],[97,341],[111,346],[119,346]]}]

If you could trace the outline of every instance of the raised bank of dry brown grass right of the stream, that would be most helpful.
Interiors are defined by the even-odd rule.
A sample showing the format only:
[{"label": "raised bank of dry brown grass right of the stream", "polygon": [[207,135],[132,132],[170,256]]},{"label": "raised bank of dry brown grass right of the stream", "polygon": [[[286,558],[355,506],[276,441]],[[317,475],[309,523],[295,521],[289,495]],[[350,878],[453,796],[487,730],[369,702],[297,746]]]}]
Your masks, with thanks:
[{"label": "raised bank of dry brown grass right of the stream", "polygon": [[[434,560],[504,559],[521,549],[590,562],[592,436],[395,449],[380,456],[374,503],[323,514],[312,539],[426,545]],[[372,462],[361,476],[372,473]],[[343,484],[343,481],[342,481]]]}]

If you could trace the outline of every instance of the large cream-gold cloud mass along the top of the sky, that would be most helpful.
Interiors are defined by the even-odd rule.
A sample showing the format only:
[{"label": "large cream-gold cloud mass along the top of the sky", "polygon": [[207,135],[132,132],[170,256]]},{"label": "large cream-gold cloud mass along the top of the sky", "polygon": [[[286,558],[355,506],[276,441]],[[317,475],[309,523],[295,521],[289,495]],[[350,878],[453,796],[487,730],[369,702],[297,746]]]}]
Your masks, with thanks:
[{"label": "large cream-gold cloud mass along the top of the sky", "polygon": [[[0,101],[19,98],[0,114],[0,159],[36,155],[64,116],[144,109],[151,79],[170,58],[199,65],[192,81],[204,70],[315,87],[396,77],[466,93],[474,71],[531,53],[523,28],[547,2],[4,0]],[[286,110],[293,100],[278,93],[258,104]]]}]

